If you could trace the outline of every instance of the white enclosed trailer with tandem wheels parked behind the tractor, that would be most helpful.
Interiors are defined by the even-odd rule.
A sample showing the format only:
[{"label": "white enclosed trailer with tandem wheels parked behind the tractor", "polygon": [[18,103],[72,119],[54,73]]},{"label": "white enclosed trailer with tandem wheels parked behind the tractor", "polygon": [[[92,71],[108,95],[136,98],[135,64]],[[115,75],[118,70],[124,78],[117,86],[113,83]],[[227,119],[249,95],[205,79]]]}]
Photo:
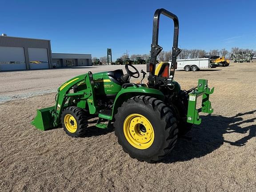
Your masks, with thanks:
[{"label": "white enclosed trailer with tandem wheels parked behind the tractor", "polygon": [[[198,71],[199,69],[210,68],[210,58],[180,59],[176,60],[177,69],[188,71]],[[171,61],[169,61],[171,64]]]}]

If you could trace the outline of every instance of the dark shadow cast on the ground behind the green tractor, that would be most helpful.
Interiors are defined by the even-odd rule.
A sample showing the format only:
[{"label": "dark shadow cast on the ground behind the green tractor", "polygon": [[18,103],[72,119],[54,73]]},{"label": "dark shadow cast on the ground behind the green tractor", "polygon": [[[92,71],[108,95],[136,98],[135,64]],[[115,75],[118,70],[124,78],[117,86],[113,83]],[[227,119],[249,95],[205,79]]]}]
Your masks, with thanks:
[{"label": "dark shadow cast on the ground behind the green tractor", "polygon": [[[223,143],[238,147],[244,146],[248,140],[256,136],[256,124],[246,127],[243,124],[255,122],[256,117],[244,120],[243,116],[254,113],[256,113],[256,110],[238,113],[232,117],[220,115],[202,116],[202,122],[204,123],[200,126],[195,125],[186,135],[191,139],[188,140],[181,137],[172,152],[161,162],[168,164],[199,158],[220,148]],[[223,135],[228,133],[240,133],[246,136],[232,142],[224,140]]]}]

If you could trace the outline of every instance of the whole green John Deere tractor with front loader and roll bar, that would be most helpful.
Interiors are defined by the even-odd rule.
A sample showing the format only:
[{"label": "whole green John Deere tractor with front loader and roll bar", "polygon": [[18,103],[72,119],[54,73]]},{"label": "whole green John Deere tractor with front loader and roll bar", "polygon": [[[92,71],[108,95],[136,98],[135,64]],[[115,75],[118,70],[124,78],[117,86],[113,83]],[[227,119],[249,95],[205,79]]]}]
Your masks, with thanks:
[{"label": "whole green John Deere tractor with front loader and roll bar", "polygon": [[[156,57],[162,48],[158,45],[160,14],[174,21],[172,62],[161,62]],[[97,128],[109,128],[113,122],[118,143],[132,158],[156,162],[175,146],[178,135],[200,124],[199,112],[212,113],[207,80],[188,91],[182,90],[174,78],[178,48],[179,21],[165,9],[157,9],[153,20],[151,59],[147,65],[148,83],[142,83],[146,72],[131,64],[122,69],[76,76],[58,88],[55,106],[37,110],[32,124],[41,130],[62,126],[72,137],[86,134],[90,116],[98,116]],[[196,109],[197,98],[202,96],[201,108]]]}]

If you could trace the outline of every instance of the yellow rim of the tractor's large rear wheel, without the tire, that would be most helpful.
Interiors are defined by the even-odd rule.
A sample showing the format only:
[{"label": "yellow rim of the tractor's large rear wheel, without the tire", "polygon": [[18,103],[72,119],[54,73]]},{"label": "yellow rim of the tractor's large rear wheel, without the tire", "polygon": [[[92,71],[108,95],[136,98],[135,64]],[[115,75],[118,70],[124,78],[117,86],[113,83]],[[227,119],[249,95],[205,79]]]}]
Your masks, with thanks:
[{"label": "yellow rim of the tractor's large rear wheel, without the tire", "polygon": [[147,149],[154,141],[153,126],[143,115],[133,113],[126,117],[123,130],[126,140],[137,149]]}]

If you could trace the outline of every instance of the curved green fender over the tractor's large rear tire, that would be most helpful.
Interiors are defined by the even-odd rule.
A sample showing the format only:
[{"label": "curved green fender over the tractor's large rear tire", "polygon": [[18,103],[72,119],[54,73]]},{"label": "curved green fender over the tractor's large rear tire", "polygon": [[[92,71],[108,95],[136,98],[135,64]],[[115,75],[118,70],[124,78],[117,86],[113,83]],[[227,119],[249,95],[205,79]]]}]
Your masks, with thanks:
[{"label": "curved green fender over the tractor's large rear tire", "polygon": [[148,88],[148,87],[137,87],[134,85],[128,88],[122,88],[120,92],[116,95],[116,99],[114,101],[113,110],[112,110],[112,117],[117,112],[117,109],[121,107],[124,101],[134,97],[134,96],[152,96],[159,100],[164,100],[164,94],[157,89]]}]

